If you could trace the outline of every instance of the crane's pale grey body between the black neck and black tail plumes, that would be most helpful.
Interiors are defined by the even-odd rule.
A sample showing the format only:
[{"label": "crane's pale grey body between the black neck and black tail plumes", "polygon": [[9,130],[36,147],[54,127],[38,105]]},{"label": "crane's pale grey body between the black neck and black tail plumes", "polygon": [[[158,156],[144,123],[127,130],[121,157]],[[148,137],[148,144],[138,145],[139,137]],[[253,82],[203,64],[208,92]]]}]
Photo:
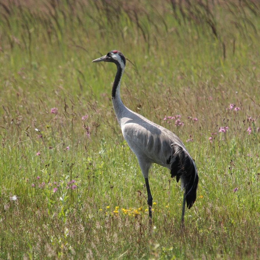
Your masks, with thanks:
[{"label": "crane's pale grey body between the black neck and black tail plumes", "polygon": [[178,136],[127,109],[124,105],[117,109],[117,98],[112,101],[115,111],[119,111],[116,116],[125,141],[135,153],[139,164],[146,166],[146,169],[141,167],[144,178],[148,178],[148,169],[151,163],[157,163],[170,170],[169,158],[172,156],[172,144],[178,144],[186,151]]}]

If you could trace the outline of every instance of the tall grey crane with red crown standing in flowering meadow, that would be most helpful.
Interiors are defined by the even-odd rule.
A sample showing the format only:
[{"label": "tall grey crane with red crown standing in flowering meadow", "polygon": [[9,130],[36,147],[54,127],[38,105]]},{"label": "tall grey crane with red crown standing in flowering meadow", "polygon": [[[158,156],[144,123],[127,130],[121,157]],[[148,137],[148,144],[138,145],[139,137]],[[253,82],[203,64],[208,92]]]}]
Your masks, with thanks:
[{"label": "tall grey crane with red crown standing in flowering meadow", "polygon": [[112,87],[113,108],[125,141],[135,153],[145,179],[150,225],[152,223],[152,195],[148,174],[151,164],[157,163],[168,168],[171,177],[176,177],[177,182],[181,180],[181,189],[184,188],[181,216],[181,225],[183,226],[185,202],[190,209],[196,200],[199,177],[194,160],[177,135],[131,111],[123,104],[119,89],[125,70],[124,55],[119,50],[111,50],[108,54],[92,62],[100,61],[113,62],[117,66]]}]

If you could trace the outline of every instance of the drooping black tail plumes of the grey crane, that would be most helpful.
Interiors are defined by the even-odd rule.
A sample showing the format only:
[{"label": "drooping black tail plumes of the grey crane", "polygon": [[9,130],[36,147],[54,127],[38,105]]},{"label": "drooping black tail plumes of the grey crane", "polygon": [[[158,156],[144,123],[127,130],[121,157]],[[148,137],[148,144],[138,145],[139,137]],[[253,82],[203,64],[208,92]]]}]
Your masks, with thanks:
[{"label": "drooping black tail plumes of the grey crane", "polygon": [[176,176],[177,182],[181,178],[185,188],[187,207],[190,209],[196,200],[196,192],[199,182],[197,169],[188,152],[177,144],[172,145],[173,155],[171,159],[171,177]]}]

